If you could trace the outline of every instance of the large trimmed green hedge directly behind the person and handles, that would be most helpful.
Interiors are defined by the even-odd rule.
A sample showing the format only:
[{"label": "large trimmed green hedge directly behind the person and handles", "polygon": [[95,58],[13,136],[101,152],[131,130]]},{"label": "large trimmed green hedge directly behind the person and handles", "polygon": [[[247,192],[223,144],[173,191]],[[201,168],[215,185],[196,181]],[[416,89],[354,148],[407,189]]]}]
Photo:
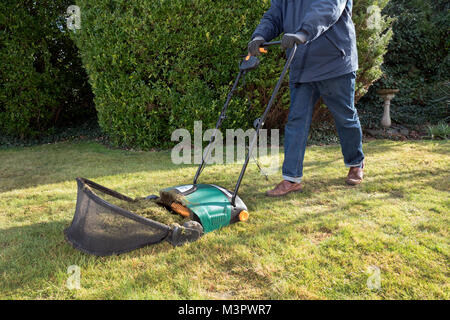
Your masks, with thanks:
[{"label": "large trimmed green hedge directly behind the person and handles", "polygon": [[[363,93],[379,75],[389,34],[368,30],[367,6],[387,0],[356,0],[363,50]],[[82,29],[73,34],[95,93],[99,123],[116,145],[142,149],[171,145],[174,129],[194,121],[213,127],[238,70],[241,55],[268,0],[78,0]],[[357,25],[358,28],[358,25]],[[380,39],[381,38],[381,39]],[[273,48],[248,75],[230,105],[224,127],[246,128],[261,113],[285,63]],[[367,70],[366,70],[367,69]],[[287,86],[266,125],[281,127],[289,106]]]}]

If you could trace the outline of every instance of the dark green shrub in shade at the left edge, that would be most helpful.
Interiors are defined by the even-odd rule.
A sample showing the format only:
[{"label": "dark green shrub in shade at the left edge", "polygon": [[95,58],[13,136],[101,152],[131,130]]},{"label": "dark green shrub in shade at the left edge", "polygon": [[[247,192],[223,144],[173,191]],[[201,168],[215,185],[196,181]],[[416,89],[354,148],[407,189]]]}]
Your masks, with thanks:
[{"label": "dark green shrub in shade at the left edge", "polygon": [[71,1],[0,3],[0,130],[35,137],[95,115],[77,48],[64,32]]}]

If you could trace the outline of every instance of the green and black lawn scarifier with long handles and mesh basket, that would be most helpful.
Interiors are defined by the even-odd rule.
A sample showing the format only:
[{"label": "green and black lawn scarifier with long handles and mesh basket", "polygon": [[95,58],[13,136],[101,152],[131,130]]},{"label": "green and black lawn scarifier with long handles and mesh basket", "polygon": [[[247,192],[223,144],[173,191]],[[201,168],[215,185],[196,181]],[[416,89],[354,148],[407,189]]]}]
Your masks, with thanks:
[{"label": "green and black lawn scarifier with long handles and mesh basket", "polygon": [[[264,43],[260,51],[266,53],[266,48],[274,45],[280,45],[280,41]],[[247,221],[249,214],[247,206],[238,196],[239,187],[259,132],[264,126],[296,50],[297,45],[289,54],[263,115],[254,123],[256,133],[251,140],[233,192],[214,184],[197,182],[211,156],[212,146],[241,78],[259,65],[259,59],[250,55],[240,64],[239,73],[222,108],[193,183],[161,190],[159,196],[132,199],[88,179],[77,178],[75,215],[71,225],[64,230],[67,241],[83,252],[105,256],[128,252],[164,240],[178,246],[195,241],[204,233],[238,221]],[[158,210],[161,208],[167,210],[161,212]],[[174,214],[180,215],[178,220],[174,219]]]}]

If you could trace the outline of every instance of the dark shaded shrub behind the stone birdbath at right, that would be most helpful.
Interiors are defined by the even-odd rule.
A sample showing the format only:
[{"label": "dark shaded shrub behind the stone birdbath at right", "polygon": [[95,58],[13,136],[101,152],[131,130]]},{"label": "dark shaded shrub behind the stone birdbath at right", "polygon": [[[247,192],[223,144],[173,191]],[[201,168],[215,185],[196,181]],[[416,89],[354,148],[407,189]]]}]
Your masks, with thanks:
[{"label": "dark shaded shrub behind the stone birdbath at right", "polygon": [[391,0],[385,13],[395,18],[394,36],[382,66],[384,77],[360,101],[361,120],[378,126],[381,87],[398,88],[392,101],[392,120],[406,126],[449,121],[448,21],[444,0]]}]

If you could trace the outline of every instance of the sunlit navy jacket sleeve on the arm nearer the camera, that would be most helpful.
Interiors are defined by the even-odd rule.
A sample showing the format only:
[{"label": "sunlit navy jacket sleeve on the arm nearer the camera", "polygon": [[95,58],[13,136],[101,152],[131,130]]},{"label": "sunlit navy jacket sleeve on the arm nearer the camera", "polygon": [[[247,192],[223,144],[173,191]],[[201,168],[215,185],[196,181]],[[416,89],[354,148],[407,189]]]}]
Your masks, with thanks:
[{"label": "sunlit navy jacket sleeve on the arm nearer the camera", "polygon": [[297,32],[306,31],[308,41],[317,39],[341,17],[348,0],[315,0]]}]

